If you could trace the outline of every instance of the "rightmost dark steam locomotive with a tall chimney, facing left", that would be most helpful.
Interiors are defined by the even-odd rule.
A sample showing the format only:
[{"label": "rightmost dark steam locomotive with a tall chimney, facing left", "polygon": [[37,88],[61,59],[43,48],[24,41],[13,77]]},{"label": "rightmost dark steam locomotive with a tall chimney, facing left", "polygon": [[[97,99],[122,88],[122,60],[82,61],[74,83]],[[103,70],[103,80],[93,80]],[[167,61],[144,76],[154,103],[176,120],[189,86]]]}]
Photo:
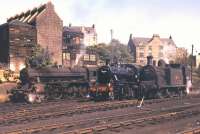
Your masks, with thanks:
[{"label": "rightmost dark steam locomotive with a tall chimney, facing left", "polygon": [[148,64],[140,70],[139,90],[146,98],[163,98],[186,95],[187,81],[190,73],[186,66],[165,64],[163,60],[158,66],[152,65],[152,56]]}]

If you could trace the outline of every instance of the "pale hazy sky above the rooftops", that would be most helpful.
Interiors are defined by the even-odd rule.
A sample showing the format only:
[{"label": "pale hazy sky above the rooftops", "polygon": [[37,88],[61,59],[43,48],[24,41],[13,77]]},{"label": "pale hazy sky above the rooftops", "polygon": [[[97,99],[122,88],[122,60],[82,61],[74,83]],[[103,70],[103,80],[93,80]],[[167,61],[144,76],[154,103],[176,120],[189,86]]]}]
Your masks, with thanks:
[{"label": "pale hazy sky above the rooftops", "polygon": [[[6,19],[49,0],[6,0],[0,5],[0,24]],[[92,26],[98,32],[98,42],[113,37],[127,44],[133,37],[161,38],[170,35],[178,47],[200,53],[199,0],[52,0],[64,25]]]}]

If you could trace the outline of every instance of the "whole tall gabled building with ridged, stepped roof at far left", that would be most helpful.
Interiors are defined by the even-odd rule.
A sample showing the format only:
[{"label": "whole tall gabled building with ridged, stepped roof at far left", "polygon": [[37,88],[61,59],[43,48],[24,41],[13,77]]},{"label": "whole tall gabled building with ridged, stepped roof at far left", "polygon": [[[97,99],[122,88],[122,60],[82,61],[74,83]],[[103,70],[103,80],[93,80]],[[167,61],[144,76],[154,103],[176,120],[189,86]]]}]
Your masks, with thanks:
[{"label": "whole tall gabled building with ridged, stepped roof at far left", "polygon": [[[6,27],[13,25],[12,23],[14,22],[18,23],[18,30],[17,28],[15,30],[12,28],[8,30]],[[36,34],[29,35],[29,29],[30,33],[35,32]],[[12,30],[18,33],[15,35],[12,34],[12,32],[10,32]],[[24,32],[24,30],[28,32]],[[30,40],[32,44],[39,44],[42,48],[48,50],[53,63],[62,65],[62,32],[63,22],[55,12],[54,5],[51,2],[17,14],[9,18],[6,24],[1,25],[0,34],[3,35],[3,37],[1,36],[0,40],[0,50],[6,49],[7,51],[3,52],[3,54],[1,53],[0,62],[7,61],[10,69],[15,68],[16,71],[20,69],[16,67],[16,65],[19,64],[19,61],[20,64],[21,62],[24,64],[24,60],[21,58],[20,60],[16,60],[19,57],[17,53],[20,55],[24,48],[16,46],[16,54],[13,54],[12,51],[10,53],[10,50],[12,50],[10,46],[12,46],[12,42],[20,42],[21,46],[25,46],[26,41]],[[27,37],[23,38],[23,36]],[[7,39],[5,40],[4,37]]]}]

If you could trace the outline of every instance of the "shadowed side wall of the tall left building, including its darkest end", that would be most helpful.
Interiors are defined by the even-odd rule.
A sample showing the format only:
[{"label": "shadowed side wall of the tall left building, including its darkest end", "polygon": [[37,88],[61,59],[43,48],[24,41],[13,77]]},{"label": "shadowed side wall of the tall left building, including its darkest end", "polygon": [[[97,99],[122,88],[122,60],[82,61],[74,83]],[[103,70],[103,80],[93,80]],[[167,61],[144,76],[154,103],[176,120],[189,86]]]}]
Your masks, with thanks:
[{"label": "shadowed side wall of the tall left building, including its darkest end", "polygon": [[18,72],[25,67],[26,58],[32,54],[36,44],[36,29],[18,20],[2,25],[1,29],[0,62]]}]

